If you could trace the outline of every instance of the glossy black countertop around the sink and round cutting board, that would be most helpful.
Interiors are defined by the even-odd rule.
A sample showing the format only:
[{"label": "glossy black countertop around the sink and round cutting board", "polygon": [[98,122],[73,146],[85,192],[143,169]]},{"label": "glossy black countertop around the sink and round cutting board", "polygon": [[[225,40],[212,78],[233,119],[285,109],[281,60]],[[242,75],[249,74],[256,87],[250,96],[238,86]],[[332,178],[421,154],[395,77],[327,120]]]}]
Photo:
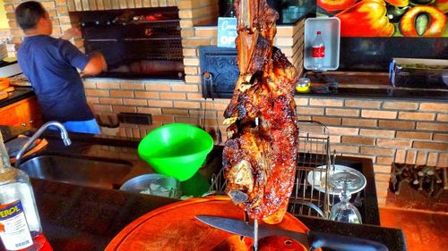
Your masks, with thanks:
[{"label": "glossy black countertop around the sink and round cutting board", "polygon": [[[63,146],[57,134],[48,133],[45,137],[49,145],[45,152],[39,154],[64,155],[113,155],[116,158],[133,158],[136,156],[138,140],[131,138],[100,137],[84,134],[71,134],[73,146]],[[215,147],[211,156],[219,155],[220,147]],[[358,158],[340,157],[337,163],[355,164]],[[354,163],[352,163],[354,162]],[[133,160],[137,163],[137,160]],[[355,164],[356,165],[356,164]],[[216,157],[208,157],[201,173],[210,176],[220,166]],[[147,165],[135,168],[138,172],[151,172]],[[373,178],[372,178],[373,179]],[[37,200],[40,220],[44,234],[55,250],[103,250],[108,242],[126,225],[138,217],[163,205],[176,202],[175,199],[135,194],[117,189],[89,188],[31,179]],[[374,186],[375,188],[375,186]],[[369,193],[366,191],[366,203]],[[376,209],[377,212],[377,209]],[[390,250],[406,250],[406,241],[402,230],[387,229],[374,225],[348,224],[323,219],[299,216],[311,230],[323,230],[342,235],[357,236],[377,240]]]}]

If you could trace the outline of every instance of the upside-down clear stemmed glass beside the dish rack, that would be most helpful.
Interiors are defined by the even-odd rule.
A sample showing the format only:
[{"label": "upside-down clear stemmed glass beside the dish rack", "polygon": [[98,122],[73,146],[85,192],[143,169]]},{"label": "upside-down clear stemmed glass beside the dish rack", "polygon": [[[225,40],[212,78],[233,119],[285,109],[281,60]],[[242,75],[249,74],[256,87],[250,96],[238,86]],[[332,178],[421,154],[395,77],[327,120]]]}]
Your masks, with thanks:
[{"label": "upside-down clear stemmed glass beside the dish rack", "polygon": [[338,222],[362,223],[361,213],[349,200],[352,191],[362,186],[362,177],[352,172],[337,172],[329,177],[335,191],[340,191],[340,202],[332,206],[330,220]]}]

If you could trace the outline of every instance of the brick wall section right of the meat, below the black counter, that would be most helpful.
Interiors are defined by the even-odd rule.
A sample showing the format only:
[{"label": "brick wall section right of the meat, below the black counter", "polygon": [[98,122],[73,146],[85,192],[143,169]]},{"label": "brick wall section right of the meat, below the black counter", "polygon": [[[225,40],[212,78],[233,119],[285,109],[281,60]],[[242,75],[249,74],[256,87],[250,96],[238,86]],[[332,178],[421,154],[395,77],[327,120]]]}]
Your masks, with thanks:
[{"label": "brick wall section right of the meat, below the black counter", "polygon": [[448,103],[297,97],[301,120],[326,124],[331,151],[372,159],[380,205],[392,163],[448,166]]}]

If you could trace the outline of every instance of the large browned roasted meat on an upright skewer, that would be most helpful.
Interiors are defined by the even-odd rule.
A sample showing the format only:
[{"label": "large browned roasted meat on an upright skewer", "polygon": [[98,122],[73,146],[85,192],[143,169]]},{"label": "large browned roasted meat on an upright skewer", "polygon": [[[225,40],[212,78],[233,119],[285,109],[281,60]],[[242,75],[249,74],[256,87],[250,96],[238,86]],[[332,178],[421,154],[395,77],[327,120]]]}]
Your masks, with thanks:
[{"label": "large browned roasted meat on an upright skewer", "polygon": [[294,185],[297,70],[273,46],[278,13],[266,0],[237,0],[239,78],[224,117],[226,192],[254,220],[281,222]]}]

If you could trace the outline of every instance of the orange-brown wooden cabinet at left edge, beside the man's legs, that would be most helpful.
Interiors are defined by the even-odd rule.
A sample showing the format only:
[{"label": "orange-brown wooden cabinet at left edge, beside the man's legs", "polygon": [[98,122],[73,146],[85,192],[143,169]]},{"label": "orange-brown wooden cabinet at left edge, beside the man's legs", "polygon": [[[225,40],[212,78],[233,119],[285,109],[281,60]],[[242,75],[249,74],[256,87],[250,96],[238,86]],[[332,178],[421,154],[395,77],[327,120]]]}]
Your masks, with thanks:
[{"label": "orange-brown wooden cabinet at left edge, beside the man's legs", "polygon": [[30,96],[0,108],[0,124],[35,127],[42,125],[42,113],[36,96]]}]

